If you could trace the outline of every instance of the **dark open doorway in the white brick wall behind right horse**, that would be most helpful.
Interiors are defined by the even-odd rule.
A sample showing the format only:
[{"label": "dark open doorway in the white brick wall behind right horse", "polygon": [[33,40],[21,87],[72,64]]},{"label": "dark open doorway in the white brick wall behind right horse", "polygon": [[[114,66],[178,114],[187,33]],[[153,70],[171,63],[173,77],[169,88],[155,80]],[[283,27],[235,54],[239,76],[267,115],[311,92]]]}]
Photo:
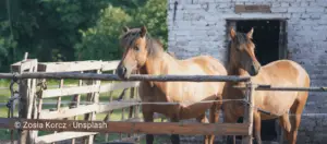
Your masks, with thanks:
[{"label": "dark open doorway in the white brick wall behind right horse", "polygon": [[[254,28],[253,41],[256,46],[255,55],[262,65],[281,58],[280,21],[279,20],[250,20],[235,21],[237,32],[247,33]],[[239,119],[242,122],[243,118]],[[262,140],[277,141],[276,119],[262,121]],[[241,139],[241,137],[240,137]]]}]

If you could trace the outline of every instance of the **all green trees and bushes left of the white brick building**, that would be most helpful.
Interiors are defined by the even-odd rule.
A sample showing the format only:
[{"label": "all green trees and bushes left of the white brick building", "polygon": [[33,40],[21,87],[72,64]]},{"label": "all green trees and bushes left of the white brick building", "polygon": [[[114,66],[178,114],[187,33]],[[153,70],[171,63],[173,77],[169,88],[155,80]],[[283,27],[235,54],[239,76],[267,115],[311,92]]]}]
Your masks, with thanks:
[{"label": "all green trees and bushes left of the white brick building", "polygon": [[119,59],[123,25],[145,24],[167,46],[166,0],[2,0],[0,71],[39,61]]}]

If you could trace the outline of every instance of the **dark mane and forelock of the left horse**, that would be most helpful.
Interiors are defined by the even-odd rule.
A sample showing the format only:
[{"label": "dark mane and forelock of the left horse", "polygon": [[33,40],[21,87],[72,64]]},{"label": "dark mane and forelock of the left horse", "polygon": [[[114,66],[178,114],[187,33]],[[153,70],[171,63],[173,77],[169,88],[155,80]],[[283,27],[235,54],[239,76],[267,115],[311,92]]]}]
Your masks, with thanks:
[{"label": "dark mane and forelock of the left horse", "polygon": [[[124,33],[120,38],[120,45],[124,48],[129,48],[134,45],[135,40],[141,37],[141,28],[131,28]],[[146,33],[146,49],[148,50],[148,57],[157,57],[164,52],[164,45],[159,39],[153,38],[149,33]]]}]

